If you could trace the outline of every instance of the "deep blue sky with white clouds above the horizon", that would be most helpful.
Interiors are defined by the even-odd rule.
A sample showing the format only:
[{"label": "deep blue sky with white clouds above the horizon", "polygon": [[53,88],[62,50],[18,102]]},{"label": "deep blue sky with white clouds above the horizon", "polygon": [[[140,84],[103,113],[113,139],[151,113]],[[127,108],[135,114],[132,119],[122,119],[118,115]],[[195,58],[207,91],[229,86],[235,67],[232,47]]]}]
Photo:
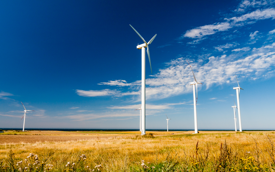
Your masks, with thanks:
[{"label": "deep blue sky with white clouds above the horizon", "polygon": [[[0,128],[274,129],[274,1],[0,1]],[[236,114],[237,115],[237,114]],[[237,127],[238,128],[238,127]]]}]

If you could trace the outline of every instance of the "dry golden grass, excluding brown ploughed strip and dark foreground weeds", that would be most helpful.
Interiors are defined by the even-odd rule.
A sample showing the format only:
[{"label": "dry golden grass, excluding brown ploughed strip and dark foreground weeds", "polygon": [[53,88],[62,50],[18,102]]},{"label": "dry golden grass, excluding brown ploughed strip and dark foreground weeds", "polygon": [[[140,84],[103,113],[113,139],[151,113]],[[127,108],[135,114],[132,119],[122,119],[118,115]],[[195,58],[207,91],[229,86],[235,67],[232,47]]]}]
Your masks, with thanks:
[{"label": "dry golden grass, excluding brown ploughed strip and dark foreground weeds", "polygon": [[[3,160],[3,163],[8,164],[11,149],[15,154],[16,162],[26,159],[30,153],[37,154],[41,163],[48,158],[46,164],[53,164],[52,171],[66,170],[68,168],[65,166],[67,162],[75,162],[76,171],[96,169],[94,167],[99,164],[102,165],[101,171],[152,171],[152,168],[142,168],[142,160],[149,167],[156,166],[155,171],[157,169],[162,171],[184,171],[184,169],[191,171],[229,171],[233,167],[230,167],[231,169],[224,167],[222,170],[223,162],[219,159],[222,158],[222,151],[226,151],[224,146],[227,144],[227,151],[230,150],[231,159],[235,158],[234,163],[237,163],[233,168],[235,171],[244,169],[245,165],[249,163],[249,157],[254,158],[251,169],[258,166],[259,170],[256,169],[255,171],[270,170],[274,164],[272,162],[274,159],[268,153],[268,150],[272,151],[274,148],[271,145],[275,139],[274,132],[200,132],[196,135],[182,134],[190,132],[169,132],[169,135],[165,135],[165,132],[147,132],[153,133],[155,136],[153,138],[142,137],[137,135],[138,132],[116,132],[116,134],[112,134],[112,132],[104,134],[87,132],[89,135],[82,133],[85,136],[81,135],[81,139],[70,140],[69,137],[80,137],[79,133],[71,132],[70,136],[67,135],[68,140],[61,142],[45,140],[35,143],[3,143],[0,144],[0,159]],[[66,137],[64,132],[60,135],[56,133],[50,135],[45,132],[43,134],[51,137],[60,135]],[[9,136],[16,137],[17,135]],[[35,136],[41,137],[41,135]],[[197,142],[198,147],[196,147]],[[87,156],[86,160],[79,159],[82,154]],[[224,156],[226,156],[226,152]],[[246,162],[240,158],[244,158]],[[225,161],[224,163],[228,164],[230,160]],[[173,166],[173,163],[176,164]],[[233,163],[233,160],[230,163]],[[268,168],[260,169],[260,165],[264,166],[265,164]],[[89,166],[89,168],[84,169],[84,165]],[[173,170],[172,168],[169,169],[169,165],[173,166]]]}]

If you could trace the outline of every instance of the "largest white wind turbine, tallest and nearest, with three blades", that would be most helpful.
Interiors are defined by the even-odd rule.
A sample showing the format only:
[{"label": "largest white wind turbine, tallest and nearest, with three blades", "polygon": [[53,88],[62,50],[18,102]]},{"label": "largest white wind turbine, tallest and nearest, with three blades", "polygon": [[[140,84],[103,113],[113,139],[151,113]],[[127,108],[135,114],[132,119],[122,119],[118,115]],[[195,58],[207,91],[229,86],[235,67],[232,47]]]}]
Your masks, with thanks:
[{"label": "largest white wind turbine, tallest and nearest, with three blades", "polygon": [[[131,24],[130,24],[131,26]],[[131,26],[133,28],[133,26]],[[133,28],[133,30],[135,30]],[[150,53],[149,53],[149,44],[153,42],[157,34],[147,43],[142,36],[138,33],[138,31],[135,30],[135,32],[140,36],[142,41],[144,41],[144,44],[138,45],[137,48],[141,49],[141,135],[146,134],[145,133],[145,47],[147,47],[147,55],[149,58],[151,73],[152,73],[152,67],[151,67],[151,59],[150,59]]]}]

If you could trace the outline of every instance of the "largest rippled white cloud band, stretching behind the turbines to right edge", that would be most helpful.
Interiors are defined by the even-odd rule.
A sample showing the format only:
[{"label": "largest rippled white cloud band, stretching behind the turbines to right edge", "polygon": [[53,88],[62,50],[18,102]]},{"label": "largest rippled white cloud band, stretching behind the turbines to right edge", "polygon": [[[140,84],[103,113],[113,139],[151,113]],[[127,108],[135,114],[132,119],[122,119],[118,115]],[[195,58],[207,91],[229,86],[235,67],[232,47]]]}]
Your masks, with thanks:
[{"label": "largest rippled white cloud band, stretching behind the turbines to right edge", "polygon": [[[211,56],[207,59],[207,63],[200,60],[197,62],[191,60],[190,64],[194,70],[196,79],[203,83],[204,89],[208,89],[212,85],[235,83],[235,74],[244,78],[249,76],[251,78],[269,77],[274,75],[274,72],[271,71],[273,71],[275,65],[275,48],[272,45],[265,45],[252,51],[249,47],[239,48],[232,50],[230,58],[228,55]],[[234,54],[236,52],[238,56],[242,52],[249,52],[251,55],[236,59],[234,58],[237,56]],[[185,58],[179,57],[171,60],[166,65],[166,68],[160,69],[157,74],[151,75],[151,78],[146,79],[146,99],[163,99],[192,92],[192,87],[188,83],[193,82],[193,74]],[[128,90],[127,92],[125,90],[108,89],[109,93],[93,94],[93,96],[111,95],[121,97],[137,95],[138,97],[135,100],[139,100],[140,92],[133,90],[140,90],[140,85],[136,85],[140,81],[133,83],[135,84],[125,88],[126,91]],[[201,86],[198,87],[199,90],[201,88]],[[79,90],[77,91],[79,94]],[[106,90],[96,90],[96,92],[99,91],[105,92]],[[83,95],[85,92],[87,92],[87,95]],[[90,92],[93,93],[93,90],[82,90],[82,94],[79,95],[87,97]]]}]

